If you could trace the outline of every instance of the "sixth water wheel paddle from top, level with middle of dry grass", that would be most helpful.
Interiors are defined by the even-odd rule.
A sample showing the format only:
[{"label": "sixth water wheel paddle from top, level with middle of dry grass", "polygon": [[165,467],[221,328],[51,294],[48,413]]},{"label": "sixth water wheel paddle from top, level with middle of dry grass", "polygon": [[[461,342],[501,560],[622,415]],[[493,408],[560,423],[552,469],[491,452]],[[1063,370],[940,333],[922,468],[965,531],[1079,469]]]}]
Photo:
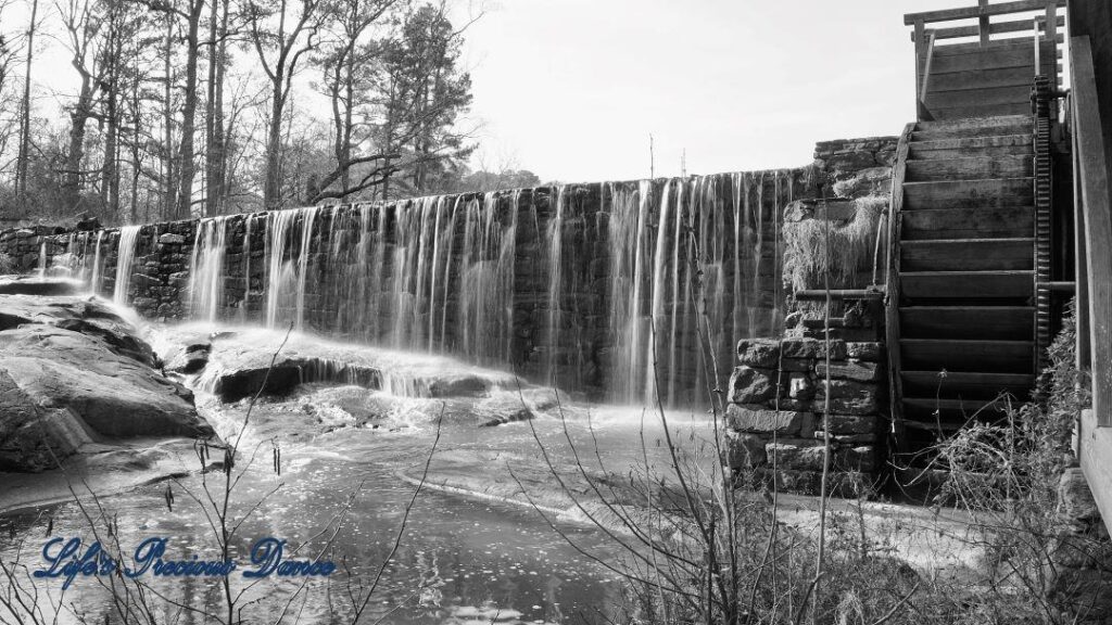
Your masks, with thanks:
[{"label": "sixth water wheel paddle from top, level with middle of dry grass", "polygon": [[1033,269],[1033,238],[920,239],[900,245],[900,268],[907,271]]}]

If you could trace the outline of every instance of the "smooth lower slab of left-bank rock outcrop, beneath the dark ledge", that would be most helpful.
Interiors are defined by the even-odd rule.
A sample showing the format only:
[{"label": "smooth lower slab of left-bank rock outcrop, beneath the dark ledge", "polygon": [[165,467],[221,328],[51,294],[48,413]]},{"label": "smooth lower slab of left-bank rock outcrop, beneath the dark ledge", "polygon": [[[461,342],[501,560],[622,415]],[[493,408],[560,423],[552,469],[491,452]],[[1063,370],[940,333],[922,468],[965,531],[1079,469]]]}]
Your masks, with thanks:
[{"label": "smooth lower slab of left-bank rock outcrop, beneath the dark ledge", "polygon": [[90,442],[163,436],[212,436],[185,387],[95,336],[0,331],[0,468],[38,472]]}]

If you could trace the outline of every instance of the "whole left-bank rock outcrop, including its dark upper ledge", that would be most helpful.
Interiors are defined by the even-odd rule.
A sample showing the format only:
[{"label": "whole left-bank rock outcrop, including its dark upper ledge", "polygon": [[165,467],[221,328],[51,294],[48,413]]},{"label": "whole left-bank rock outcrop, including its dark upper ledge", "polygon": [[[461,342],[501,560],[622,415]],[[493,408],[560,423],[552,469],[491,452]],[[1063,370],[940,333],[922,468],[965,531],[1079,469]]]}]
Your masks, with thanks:
[{"label": "whole left-bank rock outcrop, including its dark upper ledge", "polygon": [[0,278],[0,470],[212,434],[192,394],[109,305],[68,281]]}]

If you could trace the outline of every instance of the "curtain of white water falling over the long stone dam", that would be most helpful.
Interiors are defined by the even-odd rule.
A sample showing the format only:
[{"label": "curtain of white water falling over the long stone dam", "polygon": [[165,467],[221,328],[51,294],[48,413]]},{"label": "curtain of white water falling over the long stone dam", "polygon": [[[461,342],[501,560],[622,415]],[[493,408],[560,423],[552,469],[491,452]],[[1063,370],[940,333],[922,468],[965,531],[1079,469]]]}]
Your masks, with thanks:
[{"label": "curtain of white water falling over the long stone dam", "polygon": [[[207,218],[183,304],[198,320],[456,355],[612,401],[706,404],[736,341],[781,323],[793,180],[557,185]],[[137,236],[120,234],[117,301]],[[101,237],[86,240],[95,288]]]}]

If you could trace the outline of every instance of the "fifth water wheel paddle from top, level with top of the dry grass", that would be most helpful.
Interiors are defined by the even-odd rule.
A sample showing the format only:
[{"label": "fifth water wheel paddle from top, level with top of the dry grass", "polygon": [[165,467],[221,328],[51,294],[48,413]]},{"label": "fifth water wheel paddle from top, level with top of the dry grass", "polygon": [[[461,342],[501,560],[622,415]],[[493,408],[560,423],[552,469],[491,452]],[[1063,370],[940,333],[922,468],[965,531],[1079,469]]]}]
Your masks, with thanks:
[{"label": "fifth water wheel paddle from top, level with top of the dry grass", "polygon": [[910,210],[901,216],[903,244],[920,239],[1030,237],[1035,230],[1031,206]]}]

